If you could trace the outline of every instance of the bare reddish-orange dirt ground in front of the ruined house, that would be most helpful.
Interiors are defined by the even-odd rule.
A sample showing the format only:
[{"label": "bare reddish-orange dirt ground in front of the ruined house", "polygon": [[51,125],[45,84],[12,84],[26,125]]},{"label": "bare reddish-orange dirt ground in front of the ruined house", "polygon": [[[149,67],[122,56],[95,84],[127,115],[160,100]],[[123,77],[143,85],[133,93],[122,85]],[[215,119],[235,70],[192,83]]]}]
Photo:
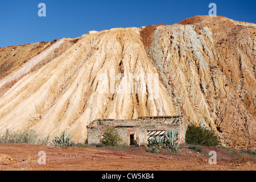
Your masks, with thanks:
[{"label": "bare reddish-orange dirt ground in front of the ruined house", "polygon": [[[38,160],[46,154],[46,164]],[[209,151],[216,151],[217,164],[209,164]],[[43,160],[41,160],[43,161]],[[31,144],[0,144],[3,171],[173,171],[256,169],[255,157],[221,147],[203,147],[201,152],[181,146],[179,154],[164,149],[159,154],[146,147],[51,147]]]}]

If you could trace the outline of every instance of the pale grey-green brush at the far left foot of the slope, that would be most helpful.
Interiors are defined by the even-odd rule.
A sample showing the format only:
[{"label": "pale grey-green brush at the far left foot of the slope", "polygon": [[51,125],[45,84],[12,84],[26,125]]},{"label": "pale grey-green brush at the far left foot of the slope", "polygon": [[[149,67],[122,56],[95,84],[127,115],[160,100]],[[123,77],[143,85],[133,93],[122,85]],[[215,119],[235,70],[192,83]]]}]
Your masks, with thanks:
[{"label": "pale grey-green brush at the far left foot of the slope", "polygon": [[9,131],[0,137],[0,143],[27,143],[46,145],[49,137],[39,137],[34,130],[27,131]]}]

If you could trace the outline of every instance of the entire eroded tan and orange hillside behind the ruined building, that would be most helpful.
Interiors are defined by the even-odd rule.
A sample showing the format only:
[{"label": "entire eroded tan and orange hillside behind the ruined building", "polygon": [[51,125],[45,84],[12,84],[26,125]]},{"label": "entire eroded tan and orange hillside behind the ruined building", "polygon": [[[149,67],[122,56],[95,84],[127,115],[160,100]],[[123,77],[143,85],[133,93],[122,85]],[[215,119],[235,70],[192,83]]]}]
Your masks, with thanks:
[{"label": "entire eroded tan and orange hillside behind the ruined building", "polygon": [[183,114],[230,147],[256,146],[256,24],[194,16],[0,48],[0,133]]}]

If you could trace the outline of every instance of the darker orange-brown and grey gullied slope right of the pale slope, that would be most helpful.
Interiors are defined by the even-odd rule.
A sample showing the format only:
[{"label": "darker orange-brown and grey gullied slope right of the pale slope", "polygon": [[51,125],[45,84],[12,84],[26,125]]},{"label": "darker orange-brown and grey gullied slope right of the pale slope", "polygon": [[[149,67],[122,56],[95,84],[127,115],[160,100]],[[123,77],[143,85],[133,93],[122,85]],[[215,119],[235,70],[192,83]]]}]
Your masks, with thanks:
[{"label": "darker orange-brown and grey gullied slope right of the pale slope", "polygon": [[195,16],[153,31],[145,48],[177,112],[230,146],[255,146],[255,24]]}]

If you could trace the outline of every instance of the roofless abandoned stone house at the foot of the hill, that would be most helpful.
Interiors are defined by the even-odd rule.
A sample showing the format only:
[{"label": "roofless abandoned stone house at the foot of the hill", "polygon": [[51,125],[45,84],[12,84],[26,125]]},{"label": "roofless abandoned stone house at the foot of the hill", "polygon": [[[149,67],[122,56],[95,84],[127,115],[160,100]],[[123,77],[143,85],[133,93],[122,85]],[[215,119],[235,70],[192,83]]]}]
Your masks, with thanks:
[{"label": "roofless abandoned stone house at the foot of the hill", "polygon": [[137,119],[96,119],[87,126],[88,144],[101,143],[108,127],[115,127],[122,144],[138,146],[148,144],[153,137],[163,138],[170,129],[179,133],[179,143],[184,143],[187,125],[182,115],[139,117]]}]

